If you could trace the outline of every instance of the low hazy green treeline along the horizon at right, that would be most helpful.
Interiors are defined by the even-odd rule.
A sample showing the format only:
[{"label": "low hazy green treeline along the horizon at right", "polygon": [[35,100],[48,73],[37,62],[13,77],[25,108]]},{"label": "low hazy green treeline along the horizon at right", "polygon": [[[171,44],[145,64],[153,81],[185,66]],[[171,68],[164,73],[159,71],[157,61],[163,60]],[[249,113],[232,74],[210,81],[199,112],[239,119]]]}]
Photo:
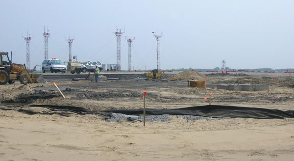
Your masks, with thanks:
[{"label": "low hazy green treeline along the horizon at right", "polygon": [[[228,71],[232,71],[231,68],[226,68]],[[167,69],[170,70],[170,69]],[[187,71],[192,70],[192,68],[180,68],[180,69],[171,69],[172,71]],[[216,67],[213,69],[194,69],[195,71],[220,71],[221,68]],[[257,69],[235,69],[236,71],[275,71],[275,72],[285,72],[289,69],[271,69],[271,68],[257,68]],[[294,71],[294,69],[290,69],[291,71]]]}]

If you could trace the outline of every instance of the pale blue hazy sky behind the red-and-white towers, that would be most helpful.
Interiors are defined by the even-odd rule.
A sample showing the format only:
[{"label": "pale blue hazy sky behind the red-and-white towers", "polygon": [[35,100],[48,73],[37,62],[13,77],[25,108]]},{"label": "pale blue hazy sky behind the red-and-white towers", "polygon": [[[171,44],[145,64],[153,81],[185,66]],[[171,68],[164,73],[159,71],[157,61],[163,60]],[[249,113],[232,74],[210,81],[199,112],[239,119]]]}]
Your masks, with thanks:
[{"label": "pale blue hazy sky behind the red-and-white towers", "polygon": [[294,0],[0,0],[0,51],[13,51],[25,63],[27,31],[30,66],[44,60],[44,26],[49,58],[99,60],[116,64],[116,28],[121,40],[121,68],[156,68],[156,39],[161,33],[161,68],[294,68]]}]

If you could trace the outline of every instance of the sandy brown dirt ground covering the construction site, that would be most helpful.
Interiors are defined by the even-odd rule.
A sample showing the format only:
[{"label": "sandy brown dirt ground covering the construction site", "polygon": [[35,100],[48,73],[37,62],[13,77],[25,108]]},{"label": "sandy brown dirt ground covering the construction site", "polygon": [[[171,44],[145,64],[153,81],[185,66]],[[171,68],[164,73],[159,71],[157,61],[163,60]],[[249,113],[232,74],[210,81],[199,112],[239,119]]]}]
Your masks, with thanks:
[{"label": "sandy brown dirt ground covering the construction site", "polygon": [[[189,73],[190,72],[190,73]],[[207,118],[105,121],[95,114],[62,116],[38,105],[83,107],[88,110],[172,109],[208,105],[294,110],[294,79],[287,73],[189,71],[166,73],[161,80],[72,81],[0,86],[0,158],[5,160],[72,161],[290,161],[294,157],[294,118]],[[103,73],[102,73],[103,74]],[[178,74],[178,75],[175,75]],[[173,76],[175,75],[175,76]],[[269,84],[269,90],[231,91],[187,86],[187,80],[211,84]],[[59,87],[62,97],[55,85]],[[211,100],[204,100],[211,93]],[[32,105],[36,107],[31,107]],[[7,110],[13,109],[16,110]],[[34,108],[35,114],[20,112]],[[6,110],[5,110],[6,109]],[[143,113],[142,113],[143,114]],[[54,153],[54,155],[52,155]],[[34,154],[32,157],[32,154]],[[139,159],[140,158],[140,159]]]}]

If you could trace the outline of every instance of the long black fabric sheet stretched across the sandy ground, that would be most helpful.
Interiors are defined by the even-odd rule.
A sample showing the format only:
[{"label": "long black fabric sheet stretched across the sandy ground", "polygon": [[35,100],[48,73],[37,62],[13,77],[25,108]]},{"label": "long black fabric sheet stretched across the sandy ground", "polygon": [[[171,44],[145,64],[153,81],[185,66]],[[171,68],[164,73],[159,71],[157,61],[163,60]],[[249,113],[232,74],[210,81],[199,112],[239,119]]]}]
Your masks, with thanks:
[{"label": "long black fabric sheet stretched across the sandy ground", "polygon": [[[104,116],[104,118],[111,117],[111,112],[123,113],[126,115],[143,115],[143,109],[124,109],[124,110],[88,110],[83,107],[73,106],[55,106],[55,105],[31,105],[29,107],[46,107],[50,111],[44,111],[43,114],[61,114],[69,116],[71,113],[75,114],[96,114]],[[14,107],[15,108],[15,107]],[[12,106],[2,109],[13,109]],[[18,111],[28,114],[38,113],[32,109],[25,110],[23,107],[18,107]],[[231,117],[231,118],[256,118],[256,119],[282,119],[282,118],[294,118],[294,110],[278,110],[267,108],[254,108],[254,107],[236,107],[236,106],[220,106],[220,105],[207,105],[196,107],[184,107],[175,109],[151,109],[146,108],[147,115],[194,115],[204,117]]]}]

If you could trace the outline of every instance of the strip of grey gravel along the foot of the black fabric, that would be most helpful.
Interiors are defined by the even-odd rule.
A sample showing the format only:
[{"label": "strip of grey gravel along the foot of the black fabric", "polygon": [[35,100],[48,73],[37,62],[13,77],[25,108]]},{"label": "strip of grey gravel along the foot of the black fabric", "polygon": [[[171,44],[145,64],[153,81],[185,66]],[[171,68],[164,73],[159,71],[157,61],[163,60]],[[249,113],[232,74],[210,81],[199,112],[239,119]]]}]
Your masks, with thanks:
[{"label": "strip of grey gravel along the foot of the black fabric", "polygon": [[[162,115],[146,115],[145,121],[146,122],[167,122],[172,120],[172,116],[184,118],[186,120],[223,120],[229,119],[229,117],[221,117],[221,118],[212,118],[212,117],[202,117],[202,116],[193,116],[193,115],[169,115],[169,114],[162,114]],[[112,113],[111,118],[107,119],[106,121],[109,122],[122,122],[122,121],[143,121],[143,115],[140,116],[132,116],[132,115],[125,115],[122,113]]]}]

